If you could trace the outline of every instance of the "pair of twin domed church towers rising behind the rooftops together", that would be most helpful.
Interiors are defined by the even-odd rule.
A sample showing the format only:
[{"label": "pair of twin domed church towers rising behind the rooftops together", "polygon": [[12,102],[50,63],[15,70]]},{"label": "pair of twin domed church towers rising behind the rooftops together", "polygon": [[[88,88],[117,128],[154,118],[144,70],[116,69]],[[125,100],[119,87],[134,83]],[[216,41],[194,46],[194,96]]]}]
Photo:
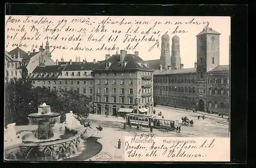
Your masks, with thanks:
[{"label": "pair of twin domed church towers rising behind the rooftops together", "polygon": [[177,35],[172,38],[171,49],[169,35],[162,36],[160,65],[162,65],[162,69],[181,69],[183,67],[180,57],[180,38]]}]

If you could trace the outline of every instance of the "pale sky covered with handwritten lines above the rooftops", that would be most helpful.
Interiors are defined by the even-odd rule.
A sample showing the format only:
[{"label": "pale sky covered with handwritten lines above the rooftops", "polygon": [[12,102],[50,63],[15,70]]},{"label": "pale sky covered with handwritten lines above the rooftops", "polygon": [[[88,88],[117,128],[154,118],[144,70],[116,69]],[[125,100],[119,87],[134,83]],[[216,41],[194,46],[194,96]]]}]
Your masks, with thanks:
[{"label": "pale sky covered with handwritten lines above the rooftops", "polygon": [[[72,22],[73,19],[79,21]],[[191,20],[193,21],[189,22]],[[106,22],[103,24],[102,21]],[[111,22],[115,24],[111,24]],[[166,22],[167,24],[164,24]],[[61,57],[67,61],[70,59],[75,61],[77,56],[80,57],[80,61],[83,59],[89,62],[92,62],[93,59],[104,60],[105,54],[116,53],[116,50],[108,51],[108,47],[112,48],[115,45],[115,49],[118,47],[120,53],[120,50],[127,49],[129,44],[136,46],[136,49],[127,50],[127,53],[133,54],[138,51],[143,60],[153,60],[160,59],[161,36],[166,33],[170,36],[170,47],[171,38],[175,34],[179,36],[181,63],[184,64],[184,68],[189,68],[194,67],[196,61],[196,35],[203,30],[207,22],[209,27],[221,34],[220,65],[229,64],[230,17],[224,16],[6,16],[6,51],[13,50],[12,44],[17,42],[20,49],[25,52],[32,51],[32,48],[38,51],[39,45],[42,43],[45,47],[46,39],[44,38],[48,36],[50,51],[55,47],[52,52],[54,61],[60,60]],[[51,30],[54,28],[56,30],[53,33]],[[129,28],[130,31],[128,31]],[[148,31],[150,28],[152,29]],[[172,33],[176,28],[180,32]],[[136,29],[137,31],[132,33]],[[147,31],[148,33],[146,33]],[[57,38],[55,38],[56,36]],[[102,36],[103,38],[99,41]],[[116,36],[118,37],[116,38]],[[129,38],[126,39],[126,37],[141,39],[143,36],[147,41],[140,41],[138,45],[136,45],[137,41],[131,42],[127,41]],[[108,42],[110,37],[112,42]],[[69,38],[72,39],[69,41]],[[113,42],[115,38],[116,41]],[[73,41],[73,39],[75,40]],[[157,41],[160,43],[159,46]],[[83,51],[74,50],[78,43],[79,47],[84,49]],[[97,50],[103,44],[104,47],[107,46],[106,50]],[[65,46],[64,49],[63,46]],[[85,51],[86,48],[88,51]]]}]

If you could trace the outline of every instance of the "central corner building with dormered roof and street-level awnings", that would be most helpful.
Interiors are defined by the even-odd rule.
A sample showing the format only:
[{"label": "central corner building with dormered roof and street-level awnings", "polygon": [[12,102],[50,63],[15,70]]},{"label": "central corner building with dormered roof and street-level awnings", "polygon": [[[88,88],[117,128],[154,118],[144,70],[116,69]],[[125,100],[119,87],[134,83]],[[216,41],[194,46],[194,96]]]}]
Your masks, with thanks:
[{"label": "central corner building with dormered roof and street-level awnings", "polygon": [[153,72],[139,52],[106,55],[94,71],[94,106],[98,114],[153,112]]}]

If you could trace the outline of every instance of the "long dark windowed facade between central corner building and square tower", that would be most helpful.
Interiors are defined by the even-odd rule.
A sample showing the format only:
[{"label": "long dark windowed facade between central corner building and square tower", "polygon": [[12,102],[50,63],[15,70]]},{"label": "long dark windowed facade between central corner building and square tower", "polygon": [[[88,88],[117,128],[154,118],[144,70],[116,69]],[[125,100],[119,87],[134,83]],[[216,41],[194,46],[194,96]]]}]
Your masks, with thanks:
[{"label": "long dark windowed facade between central corner building and square tower", "polygon": [[154,75],[154,100],[156,103],[195,108],[196,96],[196,74]]}]

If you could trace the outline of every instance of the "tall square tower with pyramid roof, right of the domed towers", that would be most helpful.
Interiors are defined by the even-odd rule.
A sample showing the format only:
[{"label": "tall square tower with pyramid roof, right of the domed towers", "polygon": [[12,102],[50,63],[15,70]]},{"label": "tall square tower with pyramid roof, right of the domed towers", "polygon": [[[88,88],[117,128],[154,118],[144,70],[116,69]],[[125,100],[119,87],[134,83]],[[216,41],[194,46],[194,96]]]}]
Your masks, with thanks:
[{"label": "tall square tower with pyramid roof, right of the domed towers", "polygon": [[220,33],[204,27],[197,37],[197,107],[199,111],[207,107],[206,72],[220,64]]}]

